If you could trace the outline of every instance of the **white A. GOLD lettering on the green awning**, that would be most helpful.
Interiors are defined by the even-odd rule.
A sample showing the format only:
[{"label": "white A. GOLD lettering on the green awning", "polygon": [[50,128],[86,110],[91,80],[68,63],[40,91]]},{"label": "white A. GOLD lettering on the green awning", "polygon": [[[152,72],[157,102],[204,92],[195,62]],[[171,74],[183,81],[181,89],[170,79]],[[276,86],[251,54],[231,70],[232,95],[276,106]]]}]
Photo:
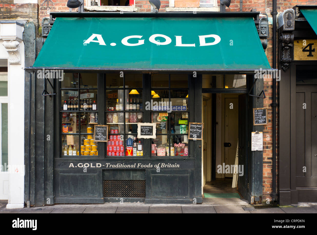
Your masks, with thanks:
[{"label": "white A. GOLD lettering on the green awning", "polygon": [[[127,37],[124,37],[122,40],[121,40],[121,43],[125,46],[129,46],[129,47],[133,47],[133,46],[139,46],[139,45],[142,45],[144,44],[144,41],[145,39],[141,39],[143,36],[142,35],[131,35],[131,36],[127,36]],[[160,42],[159,40],[155,40],[155,38],[157,37],[163,37],[165,38],[165,41],[164,42]],[[175,47],[196,47],[196,43],[192,43],[192,44],[183,44],[182,43],[182,36],[174,36],[175,37]],[[97,38],[97,39],[96,39]],[[132,38],[137,38],[137,39],[141,39],[141,40],[138,40],[137,43],[131,43],[131,40],[129,39],[132,39]],[[198,36],[199,38],[199,46],[202,47],[202,46],[212,46],[212,45],[216,45],[220,42],[221,38],[216,35],[216,34],[210,34],[210,35],[199,35]],[[208,38],[208,41],[212,40],[212,38],[215,40],[213,42],[206,42],[206,39]],[[96,40],[95,40],[96,39]],[[128,42],[128,40],[130,42]],[[149,41],[154,43],[154,44],[157,44],[157,45],[168,45],[172,42],[172,39],[169,37],[169,36],[166,36],[164,34],[153,34],[149,37]],[[92,34],[87,40],[84,40],[83,44],[89,44],[91,42],[97,42],[99,43],[99,45],[102,45],[102,46],[107,46],[105,41],[103,40],[102,38],[102,35],[101,34]],[[110,43],[110,46],[115,46],[116,43],[112,42]]]}]

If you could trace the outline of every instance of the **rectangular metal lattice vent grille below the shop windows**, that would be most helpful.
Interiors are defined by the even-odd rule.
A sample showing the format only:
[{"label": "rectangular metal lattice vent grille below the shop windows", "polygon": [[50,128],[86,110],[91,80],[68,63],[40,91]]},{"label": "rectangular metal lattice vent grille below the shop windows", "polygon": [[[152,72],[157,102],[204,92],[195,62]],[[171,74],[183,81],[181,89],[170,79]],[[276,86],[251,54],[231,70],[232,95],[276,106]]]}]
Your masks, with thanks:
[{"label": "rectangular metal lattice vent grille below the shop windows", "polygon": [[103,196],[145,198],[145,180],[104,180]]}]

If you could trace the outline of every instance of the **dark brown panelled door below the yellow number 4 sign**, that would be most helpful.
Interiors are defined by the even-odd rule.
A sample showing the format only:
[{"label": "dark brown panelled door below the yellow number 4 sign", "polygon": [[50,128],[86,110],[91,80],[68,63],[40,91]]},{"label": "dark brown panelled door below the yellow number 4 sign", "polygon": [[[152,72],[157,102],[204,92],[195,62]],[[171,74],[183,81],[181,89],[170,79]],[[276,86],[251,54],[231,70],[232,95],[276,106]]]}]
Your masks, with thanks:
[{"label": "dark brown panelled door below the yellow number 4 sign", "polygon": [[[296,87],[296,187],[316,187],[316,186],[317,186],[317,86],[297,86]],[[299,200],[301,199],[299,198]]]}]

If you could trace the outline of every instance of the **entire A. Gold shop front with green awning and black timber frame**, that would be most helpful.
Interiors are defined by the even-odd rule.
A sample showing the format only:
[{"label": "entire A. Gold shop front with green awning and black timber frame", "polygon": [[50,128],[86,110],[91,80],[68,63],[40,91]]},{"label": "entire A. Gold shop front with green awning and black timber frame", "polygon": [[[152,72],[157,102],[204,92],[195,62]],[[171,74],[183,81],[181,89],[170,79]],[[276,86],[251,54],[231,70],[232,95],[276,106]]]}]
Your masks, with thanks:
[{"label": "entire A. Gold shop front with green awning and black timber frame", "polygon": [[[247,147],[248,133],[262,128],[250,125],[252,107],[263,107],[248,96],[263,90],[254,73],[270,69],[257,12],[51,17],[26,68],[46,95],[35,97],[35,163],[26,157],[31,205],[202,203],[203,93],[240,95],[239,189],[249,201],[262,193],[262,153]],[[216,86],[225,75],[245,86]]]}]

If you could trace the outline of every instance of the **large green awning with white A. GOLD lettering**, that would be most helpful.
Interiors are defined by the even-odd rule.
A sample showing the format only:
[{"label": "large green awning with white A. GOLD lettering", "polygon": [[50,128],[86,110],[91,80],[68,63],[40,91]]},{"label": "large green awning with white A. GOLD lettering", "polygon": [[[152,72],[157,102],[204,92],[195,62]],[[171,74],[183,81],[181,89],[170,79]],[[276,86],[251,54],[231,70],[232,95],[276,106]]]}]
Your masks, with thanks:
[{"label": "large green awning with white A. GOLD lettering", "polygon": [[252,71],[270,65],[252,17],[57,17],[34,67]]}]

